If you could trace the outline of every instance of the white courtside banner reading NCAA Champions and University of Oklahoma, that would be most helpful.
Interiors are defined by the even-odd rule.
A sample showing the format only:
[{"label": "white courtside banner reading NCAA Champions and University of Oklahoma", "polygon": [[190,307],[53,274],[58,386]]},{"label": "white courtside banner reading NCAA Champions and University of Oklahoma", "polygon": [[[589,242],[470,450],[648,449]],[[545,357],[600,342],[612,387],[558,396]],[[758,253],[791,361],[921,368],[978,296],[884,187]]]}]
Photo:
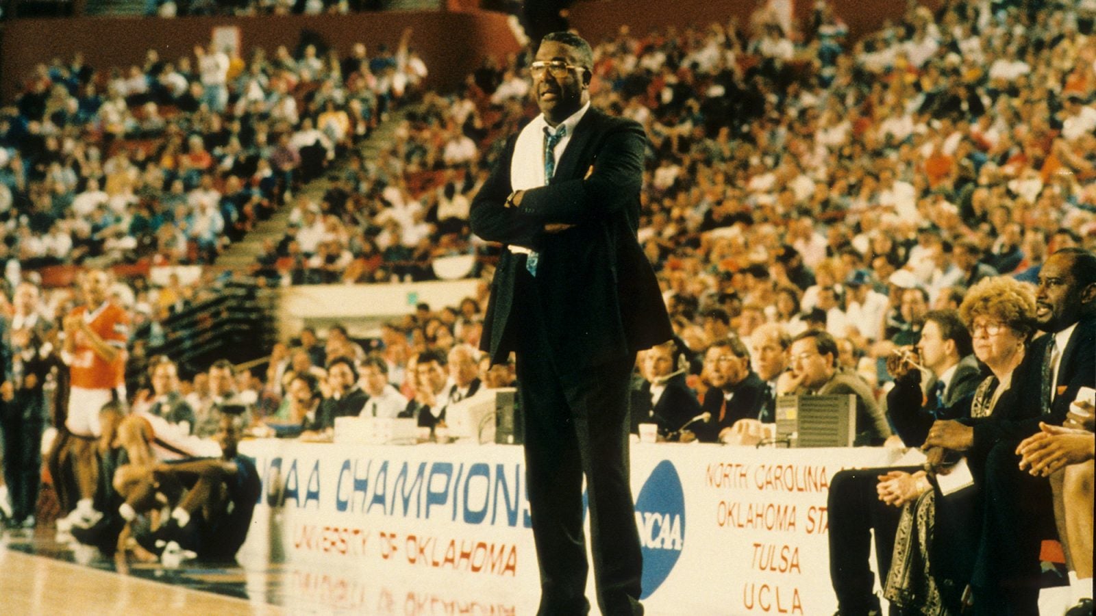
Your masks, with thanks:
[{"label": "white courtside banner reading NCAA Champions and University of Oklahoma", "polygon": [[[255,458],[263,491],[239,558],[285,570],[302,608],[536,612],[521,447],[271,440],[240,448]],[[892,465],[900,453],[633,444],[644,605],[652,614],[833,613],[830,478]]]}]

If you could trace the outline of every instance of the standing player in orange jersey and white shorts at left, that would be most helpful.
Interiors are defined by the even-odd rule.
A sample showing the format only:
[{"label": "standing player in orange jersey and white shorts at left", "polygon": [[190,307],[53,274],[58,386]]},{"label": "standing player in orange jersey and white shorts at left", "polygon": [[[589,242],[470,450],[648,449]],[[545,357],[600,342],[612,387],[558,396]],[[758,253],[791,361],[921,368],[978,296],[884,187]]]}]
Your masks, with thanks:
[{"label": "standing player in orange jersey and white shorts at left", "polygon": [[98,483],[95,438],[102,433],[99,411],[111,401],[125,400],[125,355],[129,317],[111,301],[111,276],[103,270],[90,270],[82,280],[84,305],[65,317],[62,358],[69,366],[68,431],[72,440],[72,459],[80,500],[76,509],[58,522],[65,526],[91,526],[102,516],[93,498]]}]

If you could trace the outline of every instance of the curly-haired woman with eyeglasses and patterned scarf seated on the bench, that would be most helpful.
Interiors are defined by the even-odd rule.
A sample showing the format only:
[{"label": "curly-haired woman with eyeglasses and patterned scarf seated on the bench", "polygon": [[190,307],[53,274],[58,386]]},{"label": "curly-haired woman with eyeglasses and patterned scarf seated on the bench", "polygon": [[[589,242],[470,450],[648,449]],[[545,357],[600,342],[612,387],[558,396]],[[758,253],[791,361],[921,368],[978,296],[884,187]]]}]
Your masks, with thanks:
[{"label": "curly-haired woman with eyeglasses and patterned scarf seated on the bench", "polygon": [[[1034,287],[1006,276],[979,282],[963,299],[959,316],[991,373],[969,399],[971,418],[991,417],[1018,395],[1013,375],[1036,331]],[[902,614],[959,614],[969,596],[981,511],[993,505],[983,502],[980,478],[970,475],[964,457],[938,448],[926,455],[926,470],[880,478],[879,498],[904,507],[883,596]]]}]

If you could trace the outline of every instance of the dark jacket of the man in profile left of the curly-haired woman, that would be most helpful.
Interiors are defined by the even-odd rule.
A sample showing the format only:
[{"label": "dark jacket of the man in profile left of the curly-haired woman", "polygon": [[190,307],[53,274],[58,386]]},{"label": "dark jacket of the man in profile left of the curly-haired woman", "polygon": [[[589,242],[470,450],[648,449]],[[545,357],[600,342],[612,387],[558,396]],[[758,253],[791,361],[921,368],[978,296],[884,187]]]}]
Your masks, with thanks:
[{"label": "dark jacket of the man in profile left of the curly-haired woman", "polygon": [[951,383],[944,390],[944,407],[937,408],[936,400],[932,399],[936,377],[926,386],[929,391],[929,399],[926,400],[921,390],[921,373],[910,370],[897,379],[894,387],[887,392],[887,419],[907,447],[920,447],[934,421],[970,415],[969,398],[985,376],[978,358],[967,355],[956,366]]}]

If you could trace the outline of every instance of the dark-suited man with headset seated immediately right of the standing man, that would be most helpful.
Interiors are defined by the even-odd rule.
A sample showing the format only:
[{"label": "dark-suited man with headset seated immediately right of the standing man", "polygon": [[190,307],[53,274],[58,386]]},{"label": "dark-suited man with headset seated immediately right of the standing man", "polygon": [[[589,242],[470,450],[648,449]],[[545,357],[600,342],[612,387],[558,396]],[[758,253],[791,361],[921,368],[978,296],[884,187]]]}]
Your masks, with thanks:
[{"label": "dark-suited man with headset seated immediately right of the standing man", "polygon": [[676,356],[677,345],[672,341],[643,353],[642,372],[646,380],[632,399],[632,434],[639,434],[639,424],[654,423],[659,426],[660,436],[676,441],[681,436],[682,426],[700,414],[696,393],[685,383],[686,368],[675,369]]}]

